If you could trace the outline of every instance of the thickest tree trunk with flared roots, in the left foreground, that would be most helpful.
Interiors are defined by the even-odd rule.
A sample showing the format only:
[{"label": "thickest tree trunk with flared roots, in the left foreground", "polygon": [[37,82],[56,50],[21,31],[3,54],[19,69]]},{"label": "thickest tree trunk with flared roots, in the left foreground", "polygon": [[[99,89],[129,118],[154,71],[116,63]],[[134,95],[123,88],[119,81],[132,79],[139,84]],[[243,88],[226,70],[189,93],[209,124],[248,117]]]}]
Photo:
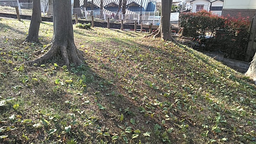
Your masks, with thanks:
[{"label": "thickest tree trunk with flared roots, in the left foreground", "polygon": [[[33,65],[36,63],[40,65],[47,63],[49,59],[58,55],[61,56],[63,65],[69,66],[72,63],[81,65],[84,63],[83,52],[78,50],[74,43],[70,0],[53,0],[53,37],[51,43],[44,50],[48,50],[48,52],[38,59],[28,61],[25,64]],[[40,53],[41,51],[39,50],[35,53]]]}]

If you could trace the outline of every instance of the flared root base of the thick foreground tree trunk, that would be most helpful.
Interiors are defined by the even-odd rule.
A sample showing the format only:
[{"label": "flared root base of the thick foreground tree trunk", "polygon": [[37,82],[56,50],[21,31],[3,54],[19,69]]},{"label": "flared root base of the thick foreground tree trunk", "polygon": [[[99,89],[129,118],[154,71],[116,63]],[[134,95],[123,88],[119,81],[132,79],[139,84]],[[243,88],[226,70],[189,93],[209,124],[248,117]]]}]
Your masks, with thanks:
[{"label": "flared root base of the thick foreground tree trunk", "polygon": [[[32,66],[34,64],[41,65],[47,63],[48,60],[54,58],[57,55],[60,55],[62,57],[63,64],[66,66],[69,66],[72,63],[75,65],[81,65],[84,64],[83,61],[86,60],[83,56],[84,52],[78,50],[74,43],[59,44],[53,42],[50,43],[47,47],[45,47],[43,50],[48,50],[48,52],[46,52],[36,60],[28,61],[24,64],[28,66]],[[43,50],[36,51],[33,54],[39,54]]]}]

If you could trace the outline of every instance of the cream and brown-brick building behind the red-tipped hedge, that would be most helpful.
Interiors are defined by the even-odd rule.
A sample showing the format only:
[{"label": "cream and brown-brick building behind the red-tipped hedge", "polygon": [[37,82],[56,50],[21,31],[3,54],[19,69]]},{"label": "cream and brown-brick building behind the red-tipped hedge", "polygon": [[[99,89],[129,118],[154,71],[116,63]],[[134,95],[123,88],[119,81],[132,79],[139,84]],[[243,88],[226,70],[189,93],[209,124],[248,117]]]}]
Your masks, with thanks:
[{"label": "cream and brown-brick building behind the red-tipped hedge", "polygon": [[234,18],[248,18],[250,21],[250,38],[246,51],[246,61],[252,60],[256,51],[256,43],[253,40],[256,37],[256,0],[224,0],[222,16]]}]

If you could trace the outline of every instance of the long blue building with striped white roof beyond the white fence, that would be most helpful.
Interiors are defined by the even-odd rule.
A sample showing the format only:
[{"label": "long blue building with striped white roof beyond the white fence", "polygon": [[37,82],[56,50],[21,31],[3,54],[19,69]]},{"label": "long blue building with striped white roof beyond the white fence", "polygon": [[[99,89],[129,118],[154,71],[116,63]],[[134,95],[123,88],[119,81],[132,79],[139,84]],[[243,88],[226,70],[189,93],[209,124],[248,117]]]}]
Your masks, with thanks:
[{"label": "long blue building with striped white roof beyond the white fence", "polygon": [[[84,0],[80,0],[81,6]],[[92,0],[87,0],[86,10],[91,10]],[[117,12],[119,0],[104,0],[103,10],[105,12]],[[100,10],[100,0],[93,1],[93,10]],[[121,10],[120,10],[121,12]],[[127,0],[125,14],[132,14],[134,12],[156,12],[156,1],[150,0]]]}]

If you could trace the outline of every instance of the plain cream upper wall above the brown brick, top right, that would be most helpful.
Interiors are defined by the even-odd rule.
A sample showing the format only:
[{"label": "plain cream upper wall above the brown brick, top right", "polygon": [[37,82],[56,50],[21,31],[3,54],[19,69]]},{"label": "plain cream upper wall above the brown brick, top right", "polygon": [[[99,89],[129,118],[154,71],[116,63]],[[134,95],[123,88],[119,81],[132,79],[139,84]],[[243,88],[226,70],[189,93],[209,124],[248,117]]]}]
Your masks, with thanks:
[{"label": "plain cream upper wall above the brown brick, top right", "polygon": [[256,9],[256,0],[224,0],[223,9]]}]

